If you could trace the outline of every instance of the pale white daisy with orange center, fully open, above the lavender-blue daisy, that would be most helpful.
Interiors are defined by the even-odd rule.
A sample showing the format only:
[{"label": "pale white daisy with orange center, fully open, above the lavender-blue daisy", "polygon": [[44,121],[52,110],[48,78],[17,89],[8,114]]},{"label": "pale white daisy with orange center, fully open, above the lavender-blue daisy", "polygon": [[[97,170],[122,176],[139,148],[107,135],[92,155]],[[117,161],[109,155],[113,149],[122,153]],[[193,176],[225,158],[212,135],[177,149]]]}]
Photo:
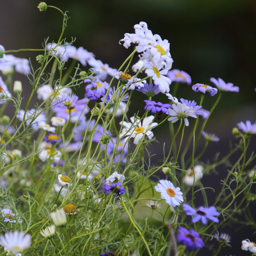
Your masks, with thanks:
[{"label": "pale white daisy with orange center, fully open, above the lavender-blue daisy", "polygon": [[155,190],[161,193],[162,199],[165,199],[169,206],[179,206],[184,201],[182,197],[183,193],[179,187],[175,188],[169,180],[160,180],[159,182],[155,186]]}]

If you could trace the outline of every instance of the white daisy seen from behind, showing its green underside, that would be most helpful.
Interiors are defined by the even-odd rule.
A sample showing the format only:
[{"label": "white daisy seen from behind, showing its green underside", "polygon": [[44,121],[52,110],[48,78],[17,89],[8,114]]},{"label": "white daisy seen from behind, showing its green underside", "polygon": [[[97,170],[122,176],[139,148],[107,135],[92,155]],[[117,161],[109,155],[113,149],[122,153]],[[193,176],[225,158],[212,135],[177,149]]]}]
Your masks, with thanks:
[{"label": "white daisy seen from behind, showing its green underside", "polygon": [[193,108],[188,107],[186,103],[177,103],[177,105],[173,103],[172,108],[173,109],[169,109],[169,115],[172,117],[168,118],[168,121],[172,121],[172,123],[175,123],[182,118],[185,122],[185,125],[188,126],[188,117],[191,116],[196,118]]}]

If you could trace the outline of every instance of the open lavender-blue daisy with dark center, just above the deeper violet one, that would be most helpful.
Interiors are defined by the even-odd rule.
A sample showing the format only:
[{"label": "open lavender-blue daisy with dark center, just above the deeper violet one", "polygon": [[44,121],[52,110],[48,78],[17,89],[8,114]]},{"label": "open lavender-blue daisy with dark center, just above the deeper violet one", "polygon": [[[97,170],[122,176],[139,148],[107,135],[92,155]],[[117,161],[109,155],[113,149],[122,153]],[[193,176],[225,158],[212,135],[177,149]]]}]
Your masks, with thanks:
[{"label": "open lavender-blue daisy with dark center, just above the deeper violet one", "polygon": [[192,222],[195,223],[201,219],[202,223],[206,225],[207,219],[210,219],[213,222],[218,223],[219,220],[215,217],[219,215],[219,212],[216,210],[214,206],[210,206],[207,208],[204,208],[203,206],[199,206],[198,209],[193,209],[188,204],[183,204],[183,210],[186,211],[187,215],[193,215],[195,216],[192,219]]}]

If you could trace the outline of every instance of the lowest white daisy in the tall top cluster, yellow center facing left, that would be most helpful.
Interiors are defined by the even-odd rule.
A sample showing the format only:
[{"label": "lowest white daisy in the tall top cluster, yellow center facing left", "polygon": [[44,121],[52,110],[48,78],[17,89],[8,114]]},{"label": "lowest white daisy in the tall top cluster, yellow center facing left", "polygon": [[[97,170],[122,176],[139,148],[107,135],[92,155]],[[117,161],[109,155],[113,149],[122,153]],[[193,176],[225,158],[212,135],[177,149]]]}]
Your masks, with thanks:
[{"label": "lowest white daisy in the tall top cluster, yellow center facing left", "polygon": [[144,60],[144,67],[146,68],[145,73],[152,77],[154,80],[154,84],[157,84],[159,86],[159,90],[161,93],[169,93],[170,91],[170,84],[171,79],[167,78],[167,69],[162,69],[162,64],[159,62],[158,64],[153,64],[151,61]]}]

